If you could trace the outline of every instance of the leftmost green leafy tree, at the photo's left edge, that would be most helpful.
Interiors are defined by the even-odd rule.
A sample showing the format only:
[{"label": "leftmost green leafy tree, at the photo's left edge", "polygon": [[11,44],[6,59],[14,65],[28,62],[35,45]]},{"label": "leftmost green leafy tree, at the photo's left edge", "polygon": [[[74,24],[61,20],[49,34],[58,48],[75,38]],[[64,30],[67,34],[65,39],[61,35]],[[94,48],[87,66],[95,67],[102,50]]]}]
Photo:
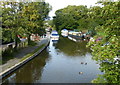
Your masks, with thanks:
[{"label": "leftmost green leafy tree, at the photo's left edge", "polygon": [[2,28],[3,43],[14,41],[17,47],[18,38],[18,3],[17,2],[1,2],[2,3]]}]

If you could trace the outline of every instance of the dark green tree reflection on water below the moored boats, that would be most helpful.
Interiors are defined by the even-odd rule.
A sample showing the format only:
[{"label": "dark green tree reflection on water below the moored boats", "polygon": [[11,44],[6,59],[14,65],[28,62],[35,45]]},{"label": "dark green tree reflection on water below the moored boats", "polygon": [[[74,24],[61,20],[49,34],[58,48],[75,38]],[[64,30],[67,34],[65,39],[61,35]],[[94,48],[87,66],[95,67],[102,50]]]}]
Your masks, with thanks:
[{"label": "dark green tree reflection on water below the moored boats", "polygon": [[86,48],[86,41],[74,42],[68,38],[61,37],[59,42],[55,45],[55,49],[59,49],[69,56],[84,56],[90,49]]}]

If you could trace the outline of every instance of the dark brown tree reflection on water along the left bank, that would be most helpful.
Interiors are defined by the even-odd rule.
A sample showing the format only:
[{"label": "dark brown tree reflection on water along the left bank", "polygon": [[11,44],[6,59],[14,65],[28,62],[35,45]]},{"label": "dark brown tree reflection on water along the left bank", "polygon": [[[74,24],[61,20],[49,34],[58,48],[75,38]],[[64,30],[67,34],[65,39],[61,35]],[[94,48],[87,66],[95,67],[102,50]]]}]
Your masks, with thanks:
[{"label": "dark brown tree reflection on water along the left bank", "polygon": [[43,67],[48,61],[48,52],[47,49],[44,50],[41,54],[35,57],[33,60],[25,64],[20,69],[16,70],[14,73],[8,75],[7,79],[4,78],[4,83],[32,83],[35,80],[40,80]]}]

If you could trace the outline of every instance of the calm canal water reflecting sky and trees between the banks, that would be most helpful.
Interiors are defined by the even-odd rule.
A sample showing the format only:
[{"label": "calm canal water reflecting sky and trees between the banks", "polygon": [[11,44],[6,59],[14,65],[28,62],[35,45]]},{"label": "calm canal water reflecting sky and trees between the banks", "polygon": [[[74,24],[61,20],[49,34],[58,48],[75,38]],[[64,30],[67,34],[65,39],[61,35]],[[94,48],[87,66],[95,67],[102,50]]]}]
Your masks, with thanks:
[{"label": "calm canal water reflecting sky and trees between the banks", "polygon": [[60,37],[3,83],[90,83],[101,74],[87,42]]}]

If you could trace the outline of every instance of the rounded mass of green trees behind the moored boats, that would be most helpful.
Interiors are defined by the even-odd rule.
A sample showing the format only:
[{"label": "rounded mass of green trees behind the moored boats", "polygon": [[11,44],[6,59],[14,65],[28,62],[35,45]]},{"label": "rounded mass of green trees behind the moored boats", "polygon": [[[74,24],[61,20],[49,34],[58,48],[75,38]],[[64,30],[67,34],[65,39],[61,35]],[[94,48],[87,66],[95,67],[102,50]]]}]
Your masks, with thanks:
[{"label": "rounded mass of green trees behind the moored boats", "polygon": [[99,15],[101,8],[94,6],[87,8],[86,6],[67,6],[66,8],[56,11],[53,17],[53,23],[57,30],[61,29],[78,29],[78,30],[95,30],[96,26],[102,25],[103,21]]}]

